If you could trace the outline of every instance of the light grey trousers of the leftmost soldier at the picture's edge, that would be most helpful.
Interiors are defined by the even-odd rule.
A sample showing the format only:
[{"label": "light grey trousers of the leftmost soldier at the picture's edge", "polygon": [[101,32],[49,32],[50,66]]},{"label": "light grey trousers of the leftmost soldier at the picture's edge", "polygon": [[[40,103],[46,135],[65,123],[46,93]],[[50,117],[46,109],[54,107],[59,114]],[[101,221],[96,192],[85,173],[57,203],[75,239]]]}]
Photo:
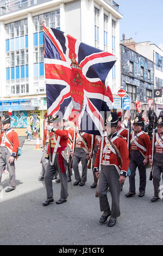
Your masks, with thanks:
[{"label": "light grey trousers of the leftmost soldier at the picture's edge", "polygon": [[1,184],[1,178],[2,173],[5,170],[5,165],[7,164],[7,168],[9,171],[9,188],[15,187],[15,162],[9,163],[9,158],[11,156],[11,153],[6,147],[0,148],[0,184]]}]

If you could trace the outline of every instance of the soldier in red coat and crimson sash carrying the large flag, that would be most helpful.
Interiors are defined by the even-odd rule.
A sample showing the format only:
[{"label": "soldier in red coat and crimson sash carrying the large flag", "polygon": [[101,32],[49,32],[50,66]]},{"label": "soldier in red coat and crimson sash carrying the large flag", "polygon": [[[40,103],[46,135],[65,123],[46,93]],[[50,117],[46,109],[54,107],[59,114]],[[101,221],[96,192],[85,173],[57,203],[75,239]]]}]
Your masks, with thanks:
[{"label": "soldier in red coat and crimson sash carrying the large flag", "polygon": [[[50,203],[54,202],[53,199],[53,186],[52,180],[54,175],[59,174],[60,182],[61,182],[61,192],[60,199],[56,202],[57,204],[62,204],[67,200],[67,175],[66,175],[66,164],[67,164],[67,140],[68,140],[68,131],[63,129],[61,123],[61,118],[54,118],[55,128],[52,126],[47,126],[48,131],[53,132],[53,136],[51,137],[47,149],[46,158],[49,159],[46,173],[45,173],[45,187],[47,193],[47,199],[43,206],[47,206]],[[54,126],[54,125],[53,125]],[[58,129],[56,128],[58,127]],[[51,155],[52,153],[52,155]]]}]

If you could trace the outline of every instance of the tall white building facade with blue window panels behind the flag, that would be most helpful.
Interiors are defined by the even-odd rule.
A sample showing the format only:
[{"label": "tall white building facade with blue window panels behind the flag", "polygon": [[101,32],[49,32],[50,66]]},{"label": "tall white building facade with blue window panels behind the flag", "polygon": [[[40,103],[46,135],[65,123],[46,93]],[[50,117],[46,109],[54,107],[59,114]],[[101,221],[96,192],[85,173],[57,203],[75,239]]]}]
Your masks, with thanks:
[{"label": "tall white building facade with blue window panels behind the flag", "polygon": [[[118,6],[114,0],[0,1],[1,110],[10,107],[15,117],[21,111],[26,117],[27,112],[31,121],[32,111],[41,120],[43,109],[47,109],[43,20],[45,26],[64,31],[118,58],[107,78],[112,93],[116,94],[120,86],[119,20],[123,18]],[[22,134],[26,125],[24,121],[23,127],[16,127],[16,123],[14,127]],[[41,128],[41,123],[37,126]],[[41,130],[37,135],[41,135]]]}]

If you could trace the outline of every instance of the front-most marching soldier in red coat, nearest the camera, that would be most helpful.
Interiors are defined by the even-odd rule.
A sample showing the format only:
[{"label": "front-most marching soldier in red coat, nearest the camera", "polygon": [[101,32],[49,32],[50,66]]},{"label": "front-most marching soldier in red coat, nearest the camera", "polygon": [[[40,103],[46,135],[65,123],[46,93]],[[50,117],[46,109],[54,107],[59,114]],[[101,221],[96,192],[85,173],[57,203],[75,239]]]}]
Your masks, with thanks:
[{"label": "front-most marching soldier in red coat, nearest the camera", "polygon": [[[94,172],[99,175],[99,164],[101,164],[101,173],[97,194],[99,197],[100,209],[103,211],[99,222],[104,223],[110,216],[108,227],[116,224],[116,218],[120,216],[120,192],[121,184],[124,183],[128,167],[128,147],[126,140],[117,136],[118,115],[111,113],[106,120],[106,131],[108,136],[104,137],[102,149],[102,160],[100,161],[101,143],[97,151]],[[108,187],[110,188],[112,205],[111,210],[107,198]]]}]

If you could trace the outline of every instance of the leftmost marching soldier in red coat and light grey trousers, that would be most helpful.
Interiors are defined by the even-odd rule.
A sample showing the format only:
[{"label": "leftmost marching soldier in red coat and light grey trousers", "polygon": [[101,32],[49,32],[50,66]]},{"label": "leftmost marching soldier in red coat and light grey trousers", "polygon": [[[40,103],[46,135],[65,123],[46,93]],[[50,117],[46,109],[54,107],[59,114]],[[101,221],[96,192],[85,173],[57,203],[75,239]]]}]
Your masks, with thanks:
[{"label": "leftmost marching soldier in red coat and light grey trousers", "polygon": [[4,114],[2,117],[1,148],[0,148],[0,182],[3,170],[7,164],[10,174],[9,187],[5,192],[15,190],[15,158],[19,146],[17,132],[10,127],[10,117]]}]

